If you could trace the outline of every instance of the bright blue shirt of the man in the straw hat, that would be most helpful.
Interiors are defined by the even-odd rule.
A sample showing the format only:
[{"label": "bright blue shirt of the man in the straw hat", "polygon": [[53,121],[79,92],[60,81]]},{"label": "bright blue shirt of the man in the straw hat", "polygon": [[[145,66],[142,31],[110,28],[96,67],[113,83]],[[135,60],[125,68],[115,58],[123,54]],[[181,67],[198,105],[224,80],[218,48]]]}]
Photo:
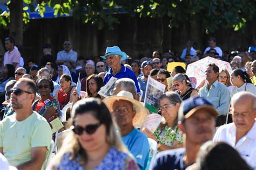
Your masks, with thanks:
[{"label": "bright blue shirt of the man in the straw hat", "polygon": [[150,146],[146,134],[138,129],[133,129],[130,133],[122,137],[123,143],[136,159],[140,169],[145,169],[149,159]]}]

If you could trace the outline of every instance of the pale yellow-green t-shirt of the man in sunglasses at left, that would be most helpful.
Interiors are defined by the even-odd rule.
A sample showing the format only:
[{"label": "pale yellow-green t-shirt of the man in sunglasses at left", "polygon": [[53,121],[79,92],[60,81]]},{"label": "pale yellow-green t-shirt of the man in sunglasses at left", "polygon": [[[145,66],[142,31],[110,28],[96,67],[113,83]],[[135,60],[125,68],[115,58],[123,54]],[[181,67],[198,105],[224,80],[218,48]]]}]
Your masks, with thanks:
[{"label": "pale yellow-green t-shirt of the man in sunglasses at left", "polygon": [[16,113],[0,121],[0,147],[12,166],[30,161],[33,147],[46,146],[49,150],[51,139],[50,125],[35,111],[24,121],[17,121]]}]

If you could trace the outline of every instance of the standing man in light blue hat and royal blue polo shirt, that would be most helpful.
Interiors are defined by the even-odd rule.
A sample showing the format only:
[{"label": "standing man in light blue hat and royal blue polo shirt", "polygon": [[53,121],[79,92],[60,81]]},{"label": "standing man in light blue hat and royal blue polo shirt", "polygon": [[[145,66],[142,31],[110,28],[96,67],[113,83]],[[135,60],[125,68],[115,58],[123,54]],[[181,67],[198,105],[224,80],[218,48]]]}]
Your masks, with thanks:
[{"label": "standing man in light blue hat and royal blue polo shirt", "polygon": [[136,75],[130,70],[126,68],[121,61],[126,60],[127,54],[122,52],[118,46],[107,47],[106,54],[104,56],[100,56],[101,58],[106,60],[107,65],[109,65],[110,69],[106,73],[104,77],[104,84],[106,84],[111,77],[116,77],[117,79],[121,78],[130,78],[134,81],[137,88],[137,96],[136,99],[139,100],[139,84],[137,81]]}]

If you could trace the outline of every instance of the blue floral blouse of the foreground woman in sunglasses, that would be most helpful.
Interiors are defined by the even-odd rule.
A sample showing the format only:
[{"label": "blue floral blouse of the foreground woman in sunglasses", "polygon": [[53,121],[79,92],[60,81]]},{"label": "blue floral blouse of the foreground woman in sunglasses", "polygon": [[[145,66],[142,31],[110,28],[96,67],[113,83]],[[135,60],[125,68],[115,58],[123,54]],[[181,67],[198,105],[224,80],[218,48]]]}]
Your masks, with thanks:
[{"label": "blue floral blouse of the foreground woman in sunglasses", "polygon": [[[80,165],[79,158],[70,160],[71,153],[66,153],[63,155],[60,163],[57,165],[56,169],[61,170],[84,170],[85,168]],[[107,152],[103,161],[99,164],[97,170],[114,170],[114,169],[138,169],[136,162],[127,154],[121,151],[118,151],[115,147],[111,147],[109,152]]]}]

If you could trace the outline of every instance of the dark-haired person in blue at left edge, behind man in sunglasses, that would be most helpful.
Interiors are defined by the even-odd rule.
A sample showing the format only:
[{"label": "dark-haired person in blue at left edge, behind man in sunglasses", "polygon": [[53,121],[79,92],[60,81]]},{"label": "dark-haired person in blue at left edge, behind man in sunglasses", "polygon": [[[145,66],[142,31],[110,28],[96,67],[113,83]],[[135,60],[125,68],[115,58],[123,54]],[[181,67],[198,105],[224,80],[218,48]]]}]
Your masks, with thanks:
[{"label": "dark-haired person in blue at left edge, behind man in sunglasses", "polygon": [[5,85],[8,81],[14,80],[15,77],[15,68],[13,65],[5,65],[3,69],[3,78],[0,79],[0,102],[5,101]]}]

